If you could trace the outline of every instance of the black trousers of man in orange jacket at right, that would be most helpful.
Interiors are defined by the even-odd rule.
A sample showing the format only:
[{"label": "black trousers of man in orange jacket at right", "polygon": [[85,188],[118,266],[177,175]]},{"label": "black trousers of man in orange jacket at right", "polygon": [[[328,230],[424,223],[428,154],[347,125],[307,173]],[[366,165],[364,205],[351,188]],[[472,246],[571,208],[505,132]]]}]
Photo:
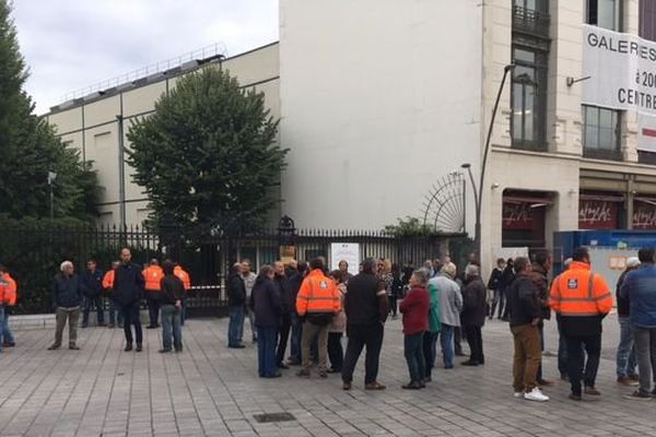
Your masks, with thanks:
[{"label": "black trousers of man in orange jacket at right", "polygon": [[[581,395],[582,380],[585,387],[595,387],[601,357],[601,333],[587,336],[566,335],[565,341],[567,343],[567,375],[572,383],[572,393]],[[587,362],[585,362],[584,349]]]}]

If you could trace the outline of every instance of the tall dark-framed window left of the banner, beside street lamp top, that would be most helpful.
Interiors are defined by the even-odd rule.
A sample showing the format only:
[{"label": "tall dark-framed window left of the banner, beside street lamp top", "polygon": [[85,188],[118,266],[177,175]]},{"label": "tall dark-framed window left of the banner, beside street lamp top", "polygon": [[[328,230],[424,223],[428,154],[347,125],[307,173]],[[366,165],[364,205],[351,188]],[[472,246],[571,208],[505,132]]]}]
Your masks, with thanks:
[{"label": "tall dark-framed window left of the banner, beside street lamp top", "polygon": [[546,54],[540,50],[528,47],[513,48],[513,146],[544,149],[546,61]]}]

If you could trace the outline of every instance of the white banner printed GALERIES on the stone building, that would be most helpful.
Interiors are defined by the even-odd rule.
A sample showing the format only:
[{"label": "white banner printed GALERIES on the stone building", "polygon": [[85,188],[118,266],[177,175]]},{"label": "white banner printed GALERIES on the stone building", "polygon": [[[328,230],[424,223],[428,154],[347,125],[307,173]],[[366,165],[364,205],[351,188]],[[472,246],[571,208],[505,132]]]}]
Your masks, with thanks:
[{"label": "white banner printed GALERIES on the stone building", "polygon": [[656,151],[656,43],[583,25],[586,105],[639,113],[639,149]]}]

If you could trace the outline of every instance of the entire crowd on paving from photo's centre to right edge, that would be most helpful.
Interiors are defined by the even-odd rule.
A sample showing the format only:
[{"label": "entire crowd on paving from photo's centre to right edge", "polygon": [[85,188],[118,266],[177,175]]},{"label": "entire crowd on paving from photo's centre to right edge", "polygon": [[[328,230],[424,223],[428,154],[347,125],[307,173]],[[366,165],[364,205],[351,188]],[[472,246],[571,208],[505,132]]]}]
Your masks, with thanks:
[{"label": "entire crowd on paving from photo's centre to right edge", "polygon": [[[532,260],[499,259],[487,284],[473,259],[461,274],[448,257],[426,261],[419,269],[411,263],[399,268],[389,260],[366,259],[358,274],[348,270],[348,263],[341,261],[338,270],[329,272],[323,258],[309,265],[296,261],[263,265],[259,275],[250,272],[248,261],[235,264],[229,283],[229,346],[244,347],[243,315],[253,311],[260,377],[280,377],[281,370],[292,365],[301,366],[297,376],[311,377],[316,366],[320,378],[341,374],[343,389],[350,390],[365,350],[365,389],[382,390],[378,363],[385,322],[399,311],[409,374],[402,388],[417,390],[432,381],[438,344],[445,369],[453,369],[454,357],[462,355],[461,336],[469,344],[469,357],[461,365],[484,365],[482,328],[487,319],[496,317],[508,322],[514,342],[515,397],[543,402],[549,397],[542,389],[554,385],[542,377],[544,323],[555,314],[558,367],[561,379],[571,385],[570,399],[600,395],[596,379],[601,326],[613,299],[604,276],[594,272],[585,248],[575,249],[565,270],[552,280],[552,257],[546,250],[536,252]],[[247,281],[245,272],[255,279]],[[621,327],[617,381],[640,385],[628,399],[651,399],[656,395],[651,387],[652,378],[656,380],[653,249],[641,249],[637,258],[628,259],[616,294]],[[291,329],[285,320],[291,321]],[[283,362],[288,340],[291,354]]]}]

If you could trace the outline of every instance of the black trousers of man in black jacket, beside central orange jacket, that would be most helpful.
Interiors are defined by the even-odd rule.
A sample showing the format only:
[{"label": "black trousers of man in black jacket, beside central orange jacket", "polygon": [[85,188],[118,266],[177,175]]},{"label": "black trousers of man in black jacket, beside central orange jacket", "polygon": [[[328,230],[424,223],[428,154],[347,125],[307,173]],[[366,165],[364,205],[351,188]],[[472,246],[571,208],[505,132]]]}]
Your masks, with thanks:
[{"label": "black trousers of man in black jacket, beside central orange jacket", "polygon": [[383,323],[374,324],[349,324],[347,334],[349,344],[342,367],[342,381],[351,382],[353,380],[353,370],[362,350],[366,347],[364,358],[364,383],[372,383],[378,377],[378,366],[380,362],[380,349],[383,347]]}]

